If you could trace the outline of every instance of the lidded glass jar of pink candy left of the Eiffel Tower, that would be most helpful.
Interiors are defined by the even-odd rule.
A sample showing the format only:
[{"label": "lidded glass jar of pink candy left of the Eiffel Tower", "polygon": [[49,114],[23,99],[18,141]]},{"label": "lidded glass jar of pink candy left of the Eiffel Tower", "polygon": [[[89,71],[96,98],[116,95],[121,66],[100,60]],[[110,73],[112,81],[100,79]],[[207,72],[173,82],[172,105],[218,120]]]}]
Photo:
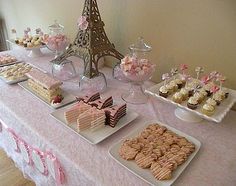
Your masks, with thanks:
[{"label": "lidded glass jar of pink candy left of the Eiffel Tower", "polygon": [[69,39],[64,34],[64,26],[55,21],[49,26],[49,35],[44,36],[47,47],[55,52],[55,58],[69,45]]}]

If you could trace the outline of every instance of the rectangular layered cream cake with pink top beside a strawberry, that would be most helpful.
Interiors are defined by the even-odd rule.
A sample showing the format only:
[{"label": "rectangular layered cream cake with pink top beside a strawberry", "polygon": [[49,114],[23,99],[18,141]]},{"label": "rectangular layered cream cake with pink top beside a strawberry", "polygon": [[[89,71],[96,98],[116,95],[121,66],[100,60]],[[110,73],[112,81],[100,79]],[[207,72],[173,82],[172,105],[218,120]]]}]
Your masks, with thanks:
[{"label": "rectangular layered cream cake with pink top beside a strawberry", "polygon": [[60,86],[62,82],[41,72],[38,69],[32,69],[26,73],[29,88],[36,94],[43,97],[47,102],[62,94]]}]

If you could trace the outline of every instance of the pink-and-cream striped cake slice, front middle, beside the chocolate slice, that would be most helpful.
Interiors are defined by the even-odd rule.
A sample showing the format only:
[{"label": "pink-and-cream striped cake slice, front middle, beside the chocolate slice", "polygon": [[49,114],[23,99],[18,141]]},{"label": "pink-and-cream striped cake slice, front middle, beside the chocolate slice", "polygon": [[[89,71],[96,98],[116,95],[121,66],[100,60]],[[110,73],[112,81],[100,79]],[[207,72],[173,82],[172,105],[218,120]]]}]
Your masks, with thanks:
[{"label": "pink-and-cream striped cake slice, front middle, beside the chocolate slice", "polygon": [[87,110],[83,114],[80,114],[77,119],[78,131],[92,129],[96,130],[105,125],[105,112],[103,110],[98,110],[95,107]]}]

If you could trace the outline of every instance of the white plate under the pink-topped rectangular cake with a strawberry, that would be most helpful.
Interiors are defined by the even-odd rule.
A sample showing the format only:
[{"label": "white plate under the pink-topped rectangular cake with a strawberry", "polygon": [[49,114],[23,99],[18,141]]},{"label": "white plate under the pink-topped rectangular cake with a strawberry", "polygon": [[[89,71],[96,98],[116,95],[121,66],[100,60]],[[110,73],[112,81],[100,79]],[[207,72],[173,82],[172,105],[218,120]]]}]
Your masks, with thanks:
[{"label": "white plate under the pink-topped rectangular cake with a strawberry", "polygon": [[76,101],[76,97],[72,94],[69,94],[68,92],[66,91],[63,91],[62,90],[62,96],[64,97],[64,99],[62,100],[61,104],[60,105],[57,105],[57,106],[51,106],[51,104],[49,102],[47,102],[45,100],[45,98],[43,98],[42,96],[38,95],[38,94],[35,94],[33,90],[31,90],[29,87],[28,87],[28,83],[27,81],[23,81],[21,83],[18,83],[18,85],[20,85],[23,89],[25,89],[26,91],[28,91],[29,93],[31,93],[32,95],[34,95],[36,98],[38,98],[40,101],[42,101],[43,103],[45,103],[46,105],[50,106],[51,108],[54,108],[54,109],[57,109],[57,108],[60,108],[60,107],[63,107],[65,105],[68,105],[70,103],[73,103]]}]

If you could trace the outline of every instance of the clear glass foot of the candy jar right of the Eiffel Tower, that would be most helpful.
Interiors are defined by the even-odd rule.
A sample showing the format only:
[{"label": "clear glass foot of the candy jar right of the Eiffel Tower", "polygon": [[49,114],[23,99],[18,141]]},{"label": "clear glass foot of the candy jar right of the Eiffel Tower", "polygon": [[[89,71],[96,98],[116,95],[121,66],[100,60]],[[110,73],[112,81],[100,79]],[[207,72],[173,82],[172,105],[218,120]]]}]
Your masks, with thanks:
[{"label": "clear glass foot of the candy jar right of the Eiffel Tower", "polygon": [[144,93],[142,84],[131,83],[128,92],[121,95],[121,98],[131,104],[145,104],[148,101],[148,96]]}]

